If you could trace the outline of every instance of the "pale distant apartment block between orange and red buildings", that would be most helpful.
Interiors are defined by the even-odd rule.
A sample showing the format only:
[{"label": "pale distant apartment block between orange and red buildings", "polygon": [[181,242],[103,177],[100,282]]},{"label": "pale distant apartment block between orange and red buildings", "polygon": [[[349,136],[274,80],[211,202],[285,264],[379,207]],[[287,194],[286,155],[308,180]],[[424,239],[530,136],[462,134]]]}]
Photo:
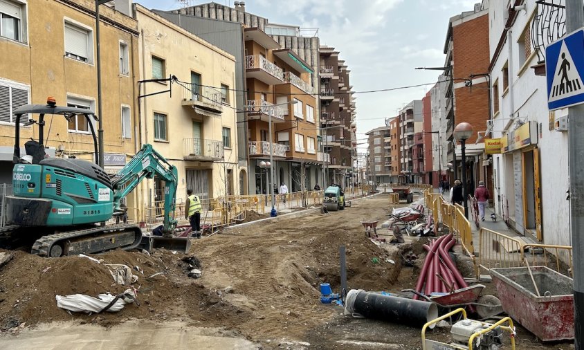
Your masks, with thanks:
[{"label": "pale distant apartment block between orange and red buildings", "polygon": [[[421,100],[413,100],[399,111],[399,163],[401,169],[399,181],[403,183],[422,182],[421,174],[414,172],[414,149],[419,148],[423,142],[423,139],[419,139],[417,144],[417,141],[414,140],[414,134],[422,131],[422,117]],[[423,154],[423,151],[421,153]],[[417,165],[417,170],[419,171],[419,165]]]}]

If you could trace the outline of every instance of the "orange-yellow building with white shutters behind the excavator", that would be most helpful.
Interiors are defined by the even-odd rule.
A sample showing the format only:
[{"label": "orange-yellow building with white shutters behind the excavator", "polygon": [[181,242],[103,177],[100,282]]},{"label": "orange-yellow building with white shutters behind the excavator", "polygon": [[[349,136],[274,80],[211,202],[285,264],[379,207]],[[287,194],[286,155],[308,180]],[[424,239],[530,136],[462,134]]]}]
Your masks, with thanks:
[{"label": "orange-yellow building with white shutters behind the excavator", "polygon": [[[101,6],[100,66],[102,111],[98,111],[95,1],[0,2],[0,178],[12,182],[14,111],[24,104],[59,105],[97,111],[103,118],[105,170],[115,174],[140,149],[137,91],[138,24],[129,1]],[[123,12],[122,12],[123,11]],[[42,19],[42,20],[41,20]],[[26,122],[23,120],[22,122]],[[95,161],[89,123],[45,116],[45,146],[50,156]],[[97,130],[97,122],[93,127]],[[38,126],[21,127],[21,140],[38,138]],[[136,208],[136,194],[127,197]],[[129,213],[134,216],[134,211]]]}]

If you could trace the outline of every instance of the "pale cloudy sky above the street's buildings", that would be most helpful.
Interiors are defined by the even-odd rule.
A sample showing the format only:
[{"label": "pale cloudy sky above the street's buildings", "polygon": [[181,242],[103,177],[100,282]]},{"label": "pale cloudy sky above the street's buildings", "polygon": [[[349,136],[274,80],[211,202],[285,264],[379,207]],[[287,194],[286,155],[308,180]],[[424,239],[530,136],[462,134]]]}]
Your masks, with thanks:
[{"label": "pale cloudy sky above the street's buildings", "polygon": [[[134,0],[147,8],[173,10],[177,0]],[[191,5],[210,1],[191,0]],[[216,0],[233,5],[232,0]],[[272,23],[318,28],[320,43],[340,51],[351,71],[357,107],[357,138],[384,125],[384,119],[423,98],[444,66],[448,19],[473,10],[480,0],[247,0],[246,11]],[[358,93],[426,84],[389,92]],[[363,142],[360,140],[360,142]],[[362,146],[359,147],[363,149]]]}]

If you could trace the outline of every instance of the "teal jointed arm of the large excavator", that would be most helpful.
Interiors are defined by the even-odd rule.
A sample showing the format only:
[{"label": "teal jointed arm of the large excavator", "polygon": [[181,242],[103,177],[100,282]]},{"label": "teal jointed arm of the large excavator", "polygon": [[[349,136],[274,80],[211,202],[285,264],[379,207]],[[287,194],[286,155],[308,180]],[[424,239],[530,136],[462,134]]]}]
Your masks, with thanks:
[{"label": "teal jointed arm of the large excavator", "polygon": [[113,187],[113,212],[122,212],[121,201],[144,178],[158,176],[165,182],[164,185],[164,221],[163,233],[170,236],[176,228],[174,219],[176,208],[176,187],[178,185],[178,172],[176,167],[152,148],[152,145],[143,145],[142,149],[131,158],[116,176],[111,179]]}]

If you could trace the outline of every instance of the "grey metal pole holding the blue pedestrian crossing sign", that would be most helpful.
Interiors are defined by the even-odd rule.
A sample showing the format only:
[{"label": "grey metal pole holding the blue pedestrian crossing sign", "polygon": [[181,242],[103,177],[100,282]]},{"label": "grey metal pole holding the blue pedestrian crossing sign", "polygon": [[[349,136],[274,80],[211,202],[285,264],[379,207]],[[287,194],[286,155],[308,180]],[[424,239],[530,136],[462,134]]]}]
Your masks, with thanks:
[{"label": "grey metal pole holding the blue pedestrian crossing sign", "polygon": [[[566,33],[584,26],[582,0],[566,0]],[[584,349],[584,104],[568,109],[569,205],[574,261],[574,346]]]}]

